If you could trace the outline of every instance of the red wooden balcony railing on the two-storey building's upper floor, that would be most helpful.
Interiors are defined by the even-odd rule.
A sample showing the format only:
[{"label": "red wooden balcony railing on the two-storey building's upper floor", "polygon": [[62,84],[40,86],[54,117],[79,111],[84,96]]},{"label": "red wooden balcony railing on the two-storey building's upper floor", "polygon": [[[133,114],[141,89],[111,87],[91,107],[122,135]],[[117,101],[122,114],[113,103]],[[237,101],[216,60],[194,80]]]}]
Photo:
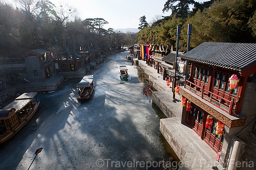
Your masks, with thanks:
[{"label": "red wooden balcony railing on the two-storey building's upper floor", "polygon": [[197,86],[195,83],[192,83],[187,79],[185,80],[184,87],[229,114],[234,114],[237,111],[238,101],[234,101],[234,98],[232,98],[231,101],[226,100],[224,97],[218,96],[213,92],[205,90],[204,86]]}]

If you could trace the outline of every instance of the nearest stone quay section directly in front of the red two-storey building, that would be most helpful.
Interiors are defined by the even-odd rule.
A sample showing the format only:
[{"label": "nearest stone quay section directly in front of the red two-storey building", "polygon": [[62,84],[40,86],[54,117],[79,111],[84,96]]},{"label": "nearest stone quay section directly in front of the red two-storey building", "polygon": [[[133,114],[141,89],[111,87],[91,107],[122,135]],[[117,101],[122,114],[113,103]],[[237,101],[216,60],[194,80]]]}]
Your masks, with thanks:
[{"label": "nearest stone quay section directly in front of the red two-storey building", "polygon": [[180,124],[179,117],[164,118],[161,121],[164,124],[160,123],[160,131],[162,134],[165,131],[167,142],[181,162],[187,165],[179,169],[224,169],[216,161],[216,152],[186,124]]}]

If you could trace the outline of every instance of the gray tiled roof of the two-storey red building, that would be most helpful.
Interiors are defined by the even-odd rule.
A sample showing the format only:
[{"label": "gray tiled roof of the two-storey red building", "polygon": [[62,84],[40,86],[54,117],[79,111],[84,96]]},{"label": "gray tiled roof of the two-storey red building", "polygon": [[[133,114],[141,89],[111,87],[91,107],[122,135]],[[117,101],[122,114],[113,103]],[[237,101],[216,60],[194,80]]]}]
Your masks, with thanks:
[{"label": "gray tiled roof of the two-storey red building", "polygon": [[224,69],[242,71],[256,63],[256,44],[203,42],[180,58]]}]

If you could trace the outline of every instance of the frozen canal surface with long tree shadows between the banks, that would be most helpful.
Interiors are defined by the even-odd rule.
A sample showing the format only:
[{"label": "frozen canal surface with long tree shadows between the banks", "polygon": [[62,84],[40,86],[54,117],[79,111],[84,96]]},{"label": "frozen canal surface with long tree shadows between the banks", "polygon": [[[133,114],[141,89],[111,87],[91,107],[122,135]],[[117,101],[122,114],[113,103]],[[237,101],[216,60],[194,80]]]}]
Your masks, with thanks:
[{"label": "frozen canal surface with long tree shadows between the banks", "polygon": [[[28,169],[40,147],[30,169],[152,169],[152,162],[156,167],[167,159],[159,117],[127,54],[113,54],[91,72],[95,88],[89,101],[77,102],[80,79],[39,93],[38,112],[0,145],[0,169]],[[119,65],[129,69],[127,82],[119,79]]]}]

